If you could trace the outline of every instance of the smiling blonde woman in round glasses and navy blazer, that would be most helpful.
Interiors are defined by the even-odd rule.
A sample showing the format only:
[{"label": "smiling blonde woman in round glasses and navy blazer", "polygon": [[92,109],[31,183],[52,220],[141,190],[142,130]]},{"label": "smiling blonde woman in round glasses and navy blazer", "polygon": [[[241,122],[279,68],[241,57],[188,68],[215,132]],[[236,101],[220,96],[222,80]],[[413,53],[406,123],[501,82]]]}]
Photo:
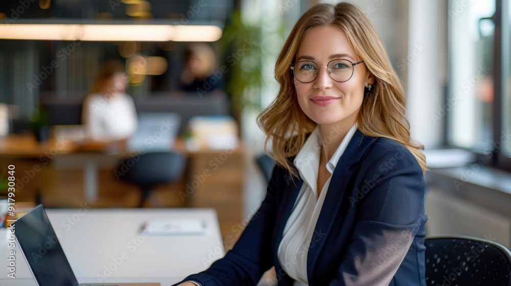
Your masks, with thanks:
[{"label": "smiling blonde woman in round glasses and navy blazer", "polygon": [[254,285],[271,266],[278,285],[426,285],[425,157],[369,19],[349,3],[310,8],[275,77],[259,123],[278,165],[258,216],[180,285]]}]

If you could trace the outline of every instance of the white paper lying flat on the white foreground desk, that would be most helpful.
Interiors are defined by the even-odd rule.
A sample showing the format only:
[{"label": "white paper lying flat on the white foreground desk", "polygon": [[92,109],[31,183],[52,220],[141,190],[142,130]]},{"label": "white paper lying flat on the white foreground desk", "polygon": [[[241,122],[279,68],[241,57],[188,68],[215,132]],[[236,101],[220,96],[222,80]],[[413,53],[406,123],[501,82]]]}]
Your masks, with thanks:
[{"label": "white paper lying flat on the white foreground desk", "polygon": [[151,235],[204,235],[207,226],[199,219],[170,219],[148,221],[144,230]]}]

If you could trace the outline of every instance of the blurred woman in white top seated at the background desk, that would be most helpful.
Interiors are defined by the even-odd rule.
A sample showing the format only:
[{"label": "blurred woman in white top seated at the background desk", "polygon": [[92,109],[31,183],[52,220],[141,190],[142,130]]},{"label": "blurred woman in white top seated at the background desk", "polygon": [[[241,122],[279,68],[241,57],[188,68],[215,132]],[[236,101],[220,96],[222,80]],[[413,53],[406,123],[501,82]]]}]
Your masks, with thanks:
[{"label": "blurred woman in white top seated at the background desk", "polygon": [[103,65],[96,85],[83,102],[82,122],[90,144],[122,141],[136,131],[137,115],[133,99],[126,94],[127,84],[121,62]]}]

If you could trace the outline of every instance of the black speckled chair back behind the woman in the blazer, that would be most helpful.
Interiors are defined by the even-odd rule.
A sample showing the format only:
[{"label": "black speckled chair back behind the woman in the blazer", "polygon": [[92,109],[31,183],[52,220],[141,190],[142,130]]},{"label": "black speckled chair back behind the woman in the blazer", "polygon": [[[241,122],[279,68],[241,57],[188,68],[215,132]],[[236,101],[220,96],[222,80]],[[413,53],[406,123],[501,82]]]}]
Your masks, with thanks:
[{"label": "black speckled chair back behind the woman in the blazer", "polygon": [[511,252],[471,236],[426,237],[426,284],[511,286]]}]

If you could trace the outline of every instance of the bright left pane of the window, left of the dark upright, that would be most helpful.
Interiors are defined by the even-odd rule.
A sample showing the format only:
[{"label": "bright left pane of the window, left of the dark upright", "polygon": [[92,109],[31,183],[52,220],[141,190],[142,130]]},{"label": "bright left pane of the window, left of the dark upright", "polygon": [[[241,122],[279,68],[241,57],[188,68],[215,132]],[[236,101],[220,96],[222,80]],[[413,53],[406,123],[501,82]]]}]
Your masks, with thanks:
[{"label": "bright left pane of the window, left of the dark upright", "polygon": [[492,145],[493,38],[488,0],[449,2],[449,143],[484,151]]}]

